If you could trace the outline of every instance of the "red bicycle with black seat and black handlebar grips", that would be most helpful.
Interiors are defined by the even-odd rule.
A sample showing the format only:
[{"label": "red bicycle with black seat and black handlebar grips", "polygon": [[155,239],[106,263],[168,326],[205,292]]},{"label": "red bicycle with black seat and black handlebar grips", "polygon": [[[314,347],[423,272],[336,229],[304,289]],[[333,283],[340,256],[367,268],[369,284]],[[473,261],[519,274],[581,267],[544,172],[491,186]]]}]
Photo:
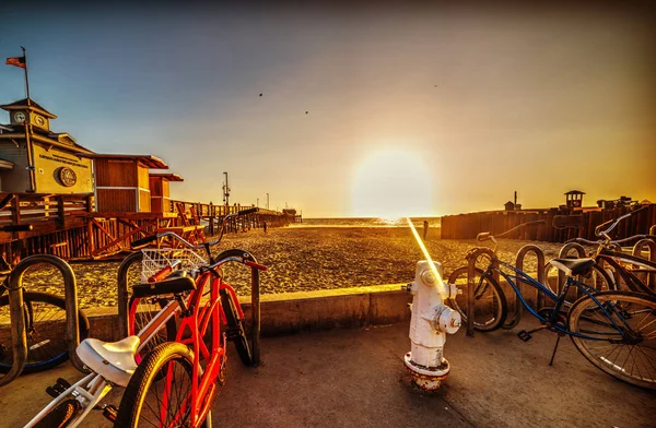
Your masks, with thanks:
[{"label": "red bicycle with black seat and black handlebar grips", "polygon": [[[190,250],[199,248],[174,233],[150,239],[165,236]],[[210,254],[209,245],[200,247]],[[115,426],[209,427],[210,407],[225,382],[226,341],[233,341],[242,361],[251,365],[244,312],[237,294],[223,281],[221,266],[239,262],[256,270],[267,268],[246,251],[227,250],[209,265],[176,270],[185,264],[186,250],[162,251],[169,252],[169,262],[151,277],[168,276],[132,287],[128,328],[131,334],[156,331],[163,343],[153,347],[151,340],[150,352],[137,349],[139,366],[126,388]],[[179,313],[179,325],[166,313]],[[222,323],[225,331],[221,331]]]}]

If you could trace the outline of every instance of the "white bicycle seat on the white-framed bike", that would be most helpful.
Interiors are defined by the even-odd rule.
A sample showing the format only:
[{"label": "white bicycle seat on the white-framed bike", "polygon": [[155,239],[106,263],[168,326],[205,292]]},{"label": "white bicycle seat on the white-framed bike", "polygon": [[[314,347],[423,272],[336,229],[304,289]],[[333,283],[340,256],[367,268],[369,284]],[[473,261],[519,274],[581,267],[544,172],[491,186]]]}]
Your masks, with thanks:
[{"label": "white bicycle seat on the white-framed bike", "polygon": [[77,353],[86,367],[109,382],[127,387],[137,369],[134,353],[140,342],[138,336],[128,336],[118,342],[85,338],[78,345]]}]

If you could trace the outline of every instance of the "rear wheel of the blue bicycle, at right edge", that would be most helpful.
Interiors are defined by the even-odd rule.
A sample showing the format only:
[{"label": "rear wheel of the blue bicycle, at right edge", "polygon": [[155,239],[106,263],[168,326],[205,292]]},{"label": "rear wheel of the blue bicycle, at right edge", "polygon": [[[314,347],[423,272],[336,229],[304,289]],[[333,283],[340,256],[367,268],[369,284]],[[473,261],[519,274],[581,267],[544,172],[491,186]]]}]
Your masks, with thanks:
[{"label": "rear wheel of the blue bicycle, at right edge", "polygon": [[570,331],[585,335],[571,336],[576,348],[608,374],[656,389],[656,298],[633,292],[594,297],[600,306],[584,297],[570,310]]}]

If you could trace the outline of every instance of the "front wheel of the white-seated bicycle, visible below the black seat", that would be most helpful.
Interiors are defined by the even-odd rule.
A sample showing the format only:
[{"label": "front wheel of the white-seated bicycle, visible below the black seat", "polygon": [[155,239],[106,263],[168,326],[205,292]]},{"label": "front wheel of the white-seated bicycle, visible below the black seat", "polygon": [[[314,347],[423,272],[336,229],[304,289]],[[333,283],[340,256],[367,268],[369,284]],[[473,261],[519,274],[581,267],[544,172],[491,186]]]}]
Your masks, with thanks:
[{"label": "front wheel of the white-seated bicycle, visible below the black seat", "polygon": [[[128,334],[137,335],[156,314],[162,308],[166,306],[168,300],[161,297],[130,297],[128,304]],[[143,358],[154,349],[157,345],[164,342],[174,342],[177,333],[177,324],[175,317],[166,321],[166,324],[162,326],[143,346],[143,348],[134,355],[137,364],[140,364]]]}]

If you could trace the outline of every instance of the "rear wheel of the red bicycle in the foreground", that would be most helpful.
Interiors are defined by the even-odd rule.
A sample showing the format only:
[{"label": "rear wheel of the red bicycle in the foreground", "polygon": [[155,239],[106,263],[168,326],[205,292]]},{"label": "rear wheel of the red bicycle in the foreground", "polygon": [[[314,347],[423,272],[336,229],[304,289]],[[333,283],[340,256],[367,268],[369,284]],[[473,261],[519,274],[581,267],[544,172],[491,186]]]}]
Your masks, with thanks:
[{"label": "rear wheel of the red bicycle in the foreground", "polygon": [[194,353],[187,346],[167,342],[154,348],[130,378],[114,426],[208,427],[207,420],[191,425],[191,412],[197,407],[191,402],[192,372]]}]

